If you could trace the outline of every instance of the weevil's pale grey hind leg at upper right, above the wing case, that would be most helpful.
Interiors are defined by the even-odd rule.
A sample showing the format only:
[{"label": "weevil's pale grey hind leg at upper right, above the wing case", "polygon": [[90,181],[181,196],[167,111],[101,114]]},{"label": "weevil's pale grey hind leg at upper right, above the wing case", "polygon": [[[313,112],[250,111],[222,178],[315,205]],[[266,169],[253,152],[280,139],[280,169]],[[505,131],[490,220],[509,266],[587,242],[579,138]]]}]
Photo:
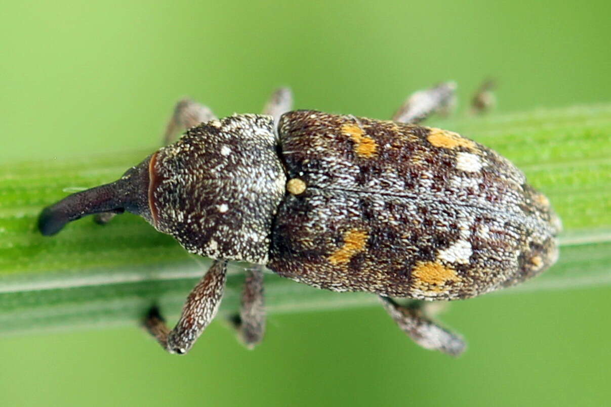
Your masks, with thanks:
[{"label": "weevil's pale grey hind leg at upper right, above the wing case", "polygon": [[432,88],[414,92],[393,115],[392,120],[420,123],[433,113],[447,114],[455,106],[455,90],[456,82],[442,82]]}]

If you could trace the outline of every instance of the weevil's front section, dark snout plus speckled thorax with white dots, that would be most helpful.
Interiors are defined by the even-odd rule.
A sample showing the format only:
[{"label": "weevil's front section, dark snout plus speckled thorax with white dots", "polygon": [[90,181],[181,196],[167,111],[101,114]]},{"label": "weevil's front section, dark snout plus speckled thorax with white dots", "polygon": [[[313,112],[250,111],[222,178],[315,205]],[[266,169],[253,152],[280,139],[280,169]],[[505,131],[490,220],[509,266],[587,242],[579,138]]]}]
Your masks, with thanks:
[{"label": "weevil's front section, dark snout plus speckled thorax with white dots", "polygon": [[202,123],[112,184],[45,208],[40,231],[51,235],[84,215],[129,211],[192,253],[265,264],[286,184],[276,147],[271,116]]}]

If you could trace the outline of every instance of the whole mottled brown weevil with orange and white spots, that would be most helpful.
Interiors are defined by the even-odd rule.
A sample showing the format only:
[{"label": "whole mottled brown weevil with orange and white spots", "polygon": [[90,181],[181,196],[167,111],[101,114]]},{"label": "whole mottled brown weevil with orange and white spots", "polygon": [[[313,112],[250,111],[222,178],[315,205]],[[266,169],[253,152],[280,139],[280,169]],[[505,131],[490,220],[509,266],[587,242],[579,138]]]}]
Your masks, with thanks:
[{"label": "whole mottled brown weevil with orange and white spots", "polygon": [[[111,184],[46,207],[42,234],[89,214],[141,215],[191,253],[214,259],[169,330],[152,307],[145,326],[170,353],[189,351],[213,320],[228,261],[246,271],[233,318],[254,346],[265,330],[263,269],[320,289],[378,295],[424,348],[458,355],[464,340],[429,301],[475,297],[538,275],[558,258],[561,229],[518,168],[473,140],[419,123],[452,101],[453,82],[414,93],[373,120],[291,110],[287,88],[263,114],[219,120],[177,104],[166,142]],[[401,304],[395,299],[407,298]]]}]

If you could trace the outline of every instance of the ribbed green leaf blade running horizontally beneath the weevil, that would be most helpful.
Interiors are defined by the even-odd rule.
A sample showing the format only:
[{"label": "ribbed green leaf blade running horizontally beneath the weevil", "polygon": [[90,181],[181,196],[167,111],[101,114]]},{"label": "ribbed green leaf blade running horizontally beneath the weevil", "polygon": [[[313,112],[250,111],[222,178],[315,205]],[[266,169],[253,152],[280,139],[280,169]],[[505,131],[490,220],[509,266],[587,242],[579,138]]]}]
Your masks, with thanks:
[{"label": "ribbed green leaf blade running horizontally beneath the weevil", "polygon": [[[546,193],[565,225],[558,264],[518,290],[611,283],[611,105],[541,109],[445,121],[511,159]],[[154,149],[154,148],[152,148]],[[150,151],[0,166],[0,331],[134,323],[153,302],[180,311],[208,260],[186,253],[141,218],[90,219],[40,236],[42,207],[68,192],[114,181]],[[237,308],[233,265],[222,312]],[[269,312],[366,306],[375,296],[312,289],[266,276]]]}]

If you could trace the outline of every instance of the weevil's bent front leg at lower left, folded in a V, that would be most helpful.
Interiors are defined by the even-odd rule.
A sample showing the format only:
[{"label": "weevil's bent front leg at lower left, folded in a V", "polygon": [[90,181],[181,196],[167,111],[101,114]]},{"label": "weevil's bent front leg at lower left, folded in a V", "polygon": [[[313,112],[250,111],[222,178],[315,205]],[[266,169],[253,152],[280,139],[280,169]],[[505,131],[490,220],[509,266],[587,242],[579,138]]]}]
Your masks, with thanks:
[{"label": "weevil's bent front leg at lower left, folded in a V", "polygon": [[227,279],[227,261],[216,260],[191,291],[180,319],[170,331],[154,307],[145,318],[148,332],[170,353],[183,355],[191,349],[203,330],[214,319],[221,304]]}]

